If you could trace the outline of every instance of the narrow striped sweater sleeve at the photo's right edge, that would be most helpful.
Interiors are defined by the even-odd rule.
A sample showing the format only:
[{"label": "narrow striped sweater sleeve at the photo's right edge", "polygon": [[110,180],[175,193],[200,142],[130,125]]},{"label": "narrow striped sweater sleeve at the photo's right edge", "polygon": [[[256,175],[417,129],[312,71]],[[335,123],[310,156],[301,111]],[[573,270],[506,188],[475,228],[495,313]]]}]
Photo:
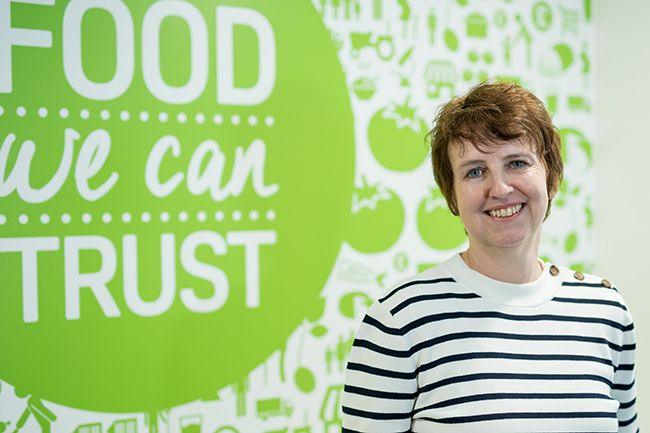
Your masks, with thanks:
[{"label": "narrow striped sweater sleeve at the photo's right edge", "polygon": [[634,359],[636,351],[636,337],[634,322],[629,310],[625,312],[623,339],[618,365],[614,372],[612,397],[618,400],[619,408],[618,431],[619,433],[637,433],[639,420],[636,411],[636,381]]}]

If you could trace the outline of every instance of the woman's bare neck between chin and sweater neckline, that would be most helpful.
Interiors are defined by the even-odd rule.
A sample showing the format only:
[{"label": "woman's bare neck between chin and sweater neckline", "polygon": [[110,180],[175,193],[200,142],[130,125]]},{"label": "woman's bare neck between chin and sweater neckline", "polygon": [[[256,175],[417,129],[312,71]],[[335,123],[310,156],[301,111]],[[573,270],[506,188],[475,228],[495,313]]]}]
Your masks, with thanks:
[{"label": "woman's bare neck between chin and sweater neckline", "polygon": [[467,266],[494,280],[523,284],[535,281],[544,270],[537,251],[536,247],[484,250],[470,243],[461,258]]}]

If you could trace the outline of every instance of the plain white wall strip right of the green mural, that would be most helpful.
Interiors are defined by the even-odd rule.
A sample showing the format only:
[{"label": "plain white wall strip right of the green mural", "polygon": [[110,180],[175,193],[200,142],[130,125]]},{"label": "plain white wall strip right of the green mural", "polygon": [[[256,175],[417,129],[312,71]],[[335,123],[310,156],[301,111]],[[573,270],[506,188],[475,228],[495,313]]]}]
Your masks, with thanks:
[{"label": "plain white wall strip right of the green mural", "polygon": [[650,2],[597,0],[596,273],[623,293],[637,334],[638,413],[650,422]]}]

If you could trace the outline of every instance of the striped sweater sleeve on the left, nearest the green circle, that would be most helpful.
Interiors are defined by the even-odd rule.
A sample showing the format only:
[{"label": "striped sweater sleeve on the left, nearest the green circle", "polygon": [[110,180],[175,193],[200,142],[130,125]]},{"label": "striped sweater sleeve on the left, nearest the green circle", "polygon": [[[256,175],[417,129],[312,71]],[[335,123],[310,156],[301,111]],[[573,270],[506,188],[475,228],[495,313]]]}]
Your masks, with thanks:
[{"label": "striped sweater sleeve on the left, nearest the green circle", "polygon": [[410,432],[417,361],[394,317],[375,302],[352,345],[341,400],[342,432]]}]

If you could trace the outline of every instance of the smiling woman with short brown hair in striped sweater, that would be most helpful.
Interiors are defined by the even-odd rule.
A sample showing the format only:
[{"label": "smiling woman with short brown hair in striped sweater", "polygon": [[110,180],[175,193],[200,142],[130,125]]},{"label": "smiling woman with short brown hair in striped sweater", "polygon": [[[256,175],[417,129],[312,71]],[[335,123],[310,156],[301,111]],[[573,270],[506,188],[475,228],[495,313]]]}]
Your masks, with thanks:
[{"label": "smiling woman with short brown hair in striped sweater", "polygon": [[607,280],[538,258],[560,138],[523,88],[480,84],[430,133],[469,247],[391,288],[348,360],[344,432],[637,432],[632,317]]}]

